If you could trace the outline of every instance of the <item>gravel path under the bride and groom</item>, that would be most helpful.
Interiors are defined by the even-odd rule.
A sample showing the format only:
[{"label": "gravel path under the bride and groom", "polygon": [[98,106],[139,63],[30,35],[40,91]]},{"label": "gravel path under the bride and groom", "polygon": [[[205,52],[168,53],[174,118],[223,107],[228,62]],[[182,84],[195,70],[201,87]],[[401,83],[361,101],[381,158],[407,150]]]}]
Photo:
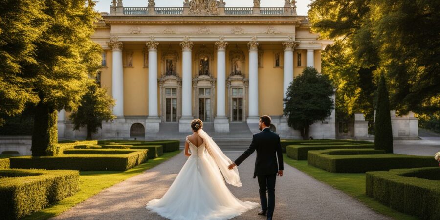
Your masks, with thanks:
[{"label": "gravel path under the bride and groom", "polygon": [[[225,152],[236,159],[242,152]],[[54,220],[162,220],[164,218],[145,209],[147,202],[161,198],[173,182],[186,157],[176,155],[164,163],[118,183],[88,198]],[[244,201],[260,202],[258,183],[252,178],[255,153],[239,167],[242,187],[228,185],[232,193]],[[285,165],[283,177],[277,178],[275,188],[276,220],[379,220],[379,215],[341,191],[335,190],[312,177]],[[250,210],[234,220],[265,220],[258,216],[260,208]]]}]

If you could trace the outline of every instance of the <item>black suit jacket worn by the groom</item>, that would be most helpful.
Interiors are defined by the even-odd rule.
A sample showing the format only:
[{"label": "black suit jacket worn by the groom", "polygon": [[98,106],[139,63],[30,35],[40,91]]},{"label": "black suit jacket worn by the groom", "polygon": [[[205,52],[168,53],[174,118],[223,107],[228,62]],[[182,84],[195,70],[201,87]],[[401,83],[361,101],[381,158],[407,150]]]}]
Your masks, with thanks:
[{"label": "black suit jacket worn by the groom", "polygon": [[[249,148],[234,163],[239,166],[250,154],[257,151],[254,178],[257,175],[267,175],[284,170],[283,153],[281,152],[280,136],[270,129],[254,134]],[[277,164],[278,157],[278,164]]]}]

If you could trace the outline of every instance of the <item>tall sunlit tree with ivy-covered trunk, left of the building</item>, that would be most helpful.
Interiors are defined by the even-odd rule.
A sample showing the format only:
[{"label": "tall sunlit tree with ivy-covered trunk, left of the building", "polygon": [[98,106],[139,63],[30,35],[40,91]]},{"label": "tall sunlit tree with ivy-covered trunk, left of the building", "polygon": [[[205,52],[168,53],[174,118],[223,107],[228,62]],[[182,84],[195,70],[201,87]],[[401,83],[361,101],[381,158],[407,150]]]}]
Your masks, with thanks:
[{"label": "tall sunlit tree with ivy-covered trunk, left of the building", "polygon": [[48,24],[35,42],[36,62],[23,66],[33,79],[39,102],[35,108],[32,155],[43,156],[57,143],[57,111],[76,110],[86,92],[88,76],[96,73],[101,48],[91,41],[99,17],[92,0],[40,0]]}]

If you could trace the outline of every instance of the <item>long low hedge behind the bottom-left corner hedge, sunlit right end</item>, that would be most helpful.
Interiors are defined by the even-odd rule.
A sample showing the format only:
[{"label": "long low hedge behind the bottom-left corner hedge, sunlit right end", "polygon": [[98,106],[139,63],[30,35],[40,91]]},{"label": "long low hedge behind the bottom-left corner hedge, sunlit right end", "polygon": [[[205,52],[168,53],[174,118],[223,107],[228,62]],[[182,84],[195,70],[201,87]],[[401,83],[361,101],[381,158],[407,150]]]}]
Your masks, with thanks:
[{"label": "long low hedge behind the bottom-left corner hedge, sunlit right end", "polygon": [[[126,150],[130,151],[130,150]],[[66,154],[61,156],[20,156],[10,158],[11,168],[47,170],[117,170],[125,171],[148,160],[148,149],[129,154]]]}]

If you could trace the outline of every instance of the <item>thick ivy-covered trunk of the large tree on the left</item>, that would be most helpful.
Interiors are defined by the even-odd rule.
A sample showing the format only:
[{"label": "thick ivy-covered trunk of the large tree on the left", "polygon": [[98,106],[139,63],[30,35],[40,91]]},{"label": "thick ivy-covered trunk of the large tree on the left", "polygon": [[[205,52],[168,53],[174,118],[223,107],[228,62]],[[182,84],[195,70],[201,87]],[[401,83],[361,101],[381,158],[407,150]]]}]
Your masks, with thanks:
[{"label": "thick ivy-covered trunk of the large tree on the left", "polygon": [[32,131],[32,156],[46,156],[46,150],[58,143],[58,111],[51,105],[38,103]]}]

